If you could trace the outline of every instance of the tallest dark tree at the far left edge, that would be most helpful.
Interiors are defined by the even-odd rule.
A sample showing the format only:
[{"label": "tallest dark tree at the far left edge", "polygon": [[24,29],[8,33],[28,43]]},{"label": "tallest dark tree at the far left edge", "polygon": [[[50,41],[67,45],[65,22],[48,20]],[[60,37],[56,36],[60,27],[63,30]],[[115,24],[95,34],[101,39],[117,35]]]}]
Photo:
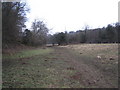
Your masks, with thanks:
[{"label": "tallest dark tree at the far left edge", "polygon": [[3,46],[8,43],[18,43],[21,40],[20,32],[25,27],[26,12],[28,9],[23,2],[2,3],[2,39]]}]

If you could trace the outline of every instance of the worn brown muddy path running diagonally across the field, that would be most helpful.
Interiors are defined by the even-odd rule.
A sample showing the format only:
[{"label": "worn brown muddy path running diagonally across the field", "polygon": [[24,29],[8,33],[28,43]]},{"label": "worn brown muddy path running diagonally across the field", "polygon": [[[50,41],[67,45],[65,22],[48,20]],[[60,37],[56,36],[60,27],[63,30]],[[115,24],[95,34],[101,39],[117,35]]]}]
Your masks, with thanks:
[{"label": "worn brown muddy path running diagonally across the field", "polygon": [[[81,57],[72,49],[54,47],[54,54],[65,60],[76,73],[70,78],[79,81],[85,87],[91,88],[117,88],[117,79],[112,72],[106,72],[98,67],[97,63],[89,63],[91,58]],[[110,75],[111,74],[111,75]]]}]

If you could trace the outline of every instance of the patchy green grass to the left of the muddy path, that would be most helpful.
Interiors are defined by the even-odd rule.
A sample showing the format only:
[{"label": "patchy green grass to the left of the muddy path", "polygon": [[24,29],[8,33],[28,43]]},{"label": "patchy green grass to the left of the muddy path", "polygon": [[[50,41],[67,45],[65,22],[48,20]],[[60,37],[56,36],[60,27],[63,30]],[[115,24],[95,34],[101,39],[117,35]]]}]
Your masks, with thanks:
[{"label": "patchy green grass to the left of the muddy path", "polygon": [[79,81],[70,78],[76,71],[67,70],[70,65],[51,53],[55,53],[54,49],[47,48],[24,50],[7,57],[3,55],[9,61],[8,65],[8,61],[3,65],[3,88],[83,87]]}]

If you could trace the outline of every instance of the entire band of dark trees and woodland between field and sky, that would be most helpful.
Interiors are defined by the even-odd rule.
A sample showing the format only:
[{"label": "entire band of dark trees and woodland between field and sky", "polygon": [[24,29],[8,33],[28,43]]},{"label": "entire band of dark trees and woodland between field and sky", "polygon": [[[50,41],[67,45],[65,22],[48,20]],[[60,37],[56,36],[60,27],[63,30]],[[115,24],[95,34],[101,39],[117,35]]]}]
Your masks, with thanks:
[{"label": "entire band of dark trees and woodland between field and sky", "polygon": [[23,2],[2,2],[2,45],[25,44],[40,46],[46,43],[66,45],[77,43],[120,43],[120,23],[98,29],[78,30],[48,34],[46,24],[38,19],[32,22],[31,30],[25,29],[29,9]]}]

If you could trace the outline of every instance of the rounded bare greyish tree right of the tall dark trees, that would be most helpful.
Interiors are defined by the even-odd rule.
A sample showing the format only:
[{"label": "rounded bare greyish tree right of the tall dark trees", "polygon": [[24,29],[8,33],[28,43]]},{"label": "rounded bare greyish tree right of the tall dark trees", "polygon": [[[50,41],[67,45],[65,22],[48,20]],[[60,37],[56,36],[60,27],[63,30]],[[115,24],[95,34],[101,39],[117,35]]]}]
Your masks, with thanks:
[{"label": "rounded bare greyish tree right of the tall dark trees", "polygon": [[32,23],[32,33],[33,33],[33,44],[34,45],[44,45],[47,42],[47,33],[49,29],[43,23],[43,21],[35,19]]}]

